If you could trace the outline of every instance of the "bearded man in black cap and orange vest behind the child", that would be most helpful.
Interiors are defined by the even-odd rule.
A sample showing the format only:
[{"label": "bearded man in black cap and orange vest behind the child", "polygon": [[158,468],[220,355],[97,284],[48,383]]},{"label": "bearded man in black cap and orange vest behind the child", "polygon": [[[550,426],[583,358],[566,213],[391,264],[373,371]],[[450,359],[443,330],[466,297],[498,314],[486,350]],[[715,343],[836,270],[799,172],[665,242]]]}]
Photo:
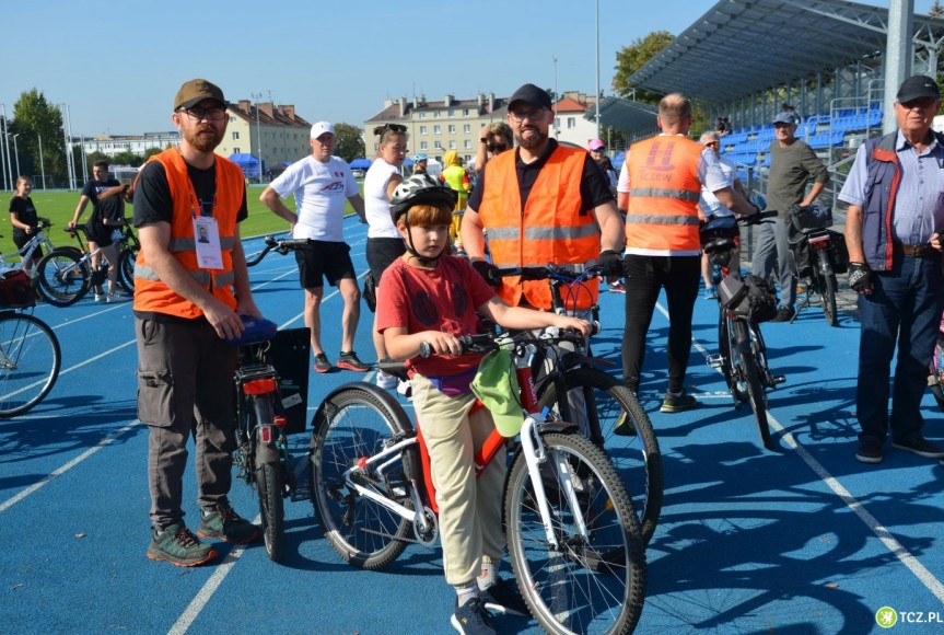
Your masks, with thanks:
[{"label": "bearded man in black cap and orange vest behind the child", "polygon": [[[614,275],[621,274],[622,219],[609,184],[585,150],[563,148],[549,137],[552,119],[547,91],[524,84],[514,92],[508,122],[517,148],[488,162],[463,218],[463,244],[473,266],[512,307],[550,309],[547,280],[496,279],[496,266],[599,262]],[[488,232],[491,264],[485,261],[482,230]],[[596,280],[588,287],[588,293],[574,293],[568,309],[596,302]]]}]

